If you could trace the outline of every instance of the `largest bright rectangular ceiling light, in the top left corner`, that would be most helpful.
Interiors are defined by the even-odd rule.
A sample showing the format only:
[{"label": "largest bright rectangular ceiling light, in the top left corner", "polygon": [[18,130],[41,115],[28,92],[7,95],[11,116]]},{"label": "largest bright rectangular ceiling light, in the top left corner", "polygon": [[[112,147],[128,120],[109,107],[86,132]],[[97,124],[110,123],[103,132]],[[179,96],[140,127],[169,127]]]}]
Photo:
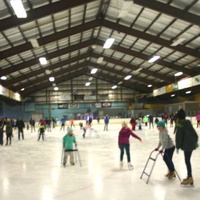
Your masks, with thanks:
[{"label": "largest bright rectangular ceiling light, in the top left corner", "polygon": [[18,18],[26,18],[27,14],[21,0],[11,0],[10,4]]}]

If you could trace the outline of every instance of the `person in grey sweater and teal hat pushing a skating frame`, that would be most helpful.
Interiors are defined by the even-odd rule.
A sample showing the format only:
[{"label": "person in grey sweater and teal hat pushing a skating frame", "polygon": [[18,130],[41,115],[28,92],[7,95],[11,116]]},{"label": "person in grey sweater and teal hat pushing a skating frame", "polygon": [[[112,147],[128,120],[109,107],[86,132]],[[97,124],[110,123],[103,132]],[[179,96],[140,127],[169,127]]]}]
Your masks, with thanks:
[{"label": "person in grey sweater and teal hat pushing a skating frame", "polygon": [[168,134],[168,130],[165,127],[165,122],[163,120],[157,123],[157,129],[159,131],[159,142],[155,150],[160,151],[160,153],[164,152],[163,160],[168,168],[166,177],[168,177],[168,179],[172,179],[176,177],[174,163],[172,161],[175,145]]}]

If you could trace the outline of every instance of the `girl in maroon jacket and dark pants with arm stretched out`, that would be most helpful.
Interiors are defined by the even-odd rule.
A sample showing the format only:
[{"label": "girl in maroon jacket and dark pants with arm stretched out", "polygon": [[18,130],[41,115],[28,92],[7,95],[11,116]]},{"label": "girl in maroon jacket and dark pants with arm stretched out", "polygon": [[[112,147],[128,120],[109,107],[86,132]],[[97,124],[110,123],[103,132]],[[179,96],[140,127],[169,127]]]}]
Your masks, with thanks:
[{"label": "girl in maroon jacket and dark pants with arm stretched out", "polygon": [[118,136],[118,145],[120,149],[120,168],[123,167],[123,157],[124,157],[124,150],[126,151],[127,161],[128,161],[128,168],[130,170],[133,169],[133,165],[131,164],[131,156],[130,156],[130,143],[129,137],[132,136],[142,142],[142,139],[137,136],[131,129],[127,126],[126,122],[122,122],[122,129],[119,131]]}]

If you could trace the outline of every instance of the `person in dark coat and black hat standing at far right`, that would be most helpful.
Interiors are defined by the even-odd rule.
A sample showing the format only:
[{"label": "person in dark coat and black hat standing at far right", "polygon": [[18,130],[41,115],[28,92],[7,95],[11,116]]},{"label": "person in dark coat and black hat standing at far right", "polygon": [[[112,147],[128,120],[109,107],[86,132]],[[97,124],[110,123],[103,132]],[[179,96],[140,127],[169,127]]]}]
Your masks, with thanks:
[{"label": "person in dark coat and black hat standing at far right", "polygon": [[198,147],[198,135],[192,126],[190,120],[186,120],[186,114],[180,109],[177,114],[178,120],[176,124],[176,148],[182,149],[184,152],[185,165],[187,169],[187,178],[183,179],[181,185],[193,185],[191,157],[192,152]]}]

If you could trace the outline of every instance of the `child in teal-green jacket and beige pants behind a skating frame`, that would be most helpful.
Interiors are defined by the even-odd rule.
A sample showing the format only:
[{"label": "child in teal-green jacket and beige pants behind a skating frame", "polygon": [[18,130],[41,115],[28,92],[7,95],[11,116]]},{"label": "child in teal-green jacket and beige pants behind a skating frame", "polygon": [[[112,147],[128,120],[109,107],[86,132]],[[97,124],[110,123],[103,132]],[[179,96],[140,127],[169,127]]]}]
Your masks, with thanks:
[{"label": "child in teal-green jacket and beige pants behind a skating frame", "polygon": [[74,145],[77,147],[76,137],[73,134],[72,128],[68,127],[67,134],[63,137],[64,167],[66,166],[68,156],[70,158],[70,164],[74,165]]}]

